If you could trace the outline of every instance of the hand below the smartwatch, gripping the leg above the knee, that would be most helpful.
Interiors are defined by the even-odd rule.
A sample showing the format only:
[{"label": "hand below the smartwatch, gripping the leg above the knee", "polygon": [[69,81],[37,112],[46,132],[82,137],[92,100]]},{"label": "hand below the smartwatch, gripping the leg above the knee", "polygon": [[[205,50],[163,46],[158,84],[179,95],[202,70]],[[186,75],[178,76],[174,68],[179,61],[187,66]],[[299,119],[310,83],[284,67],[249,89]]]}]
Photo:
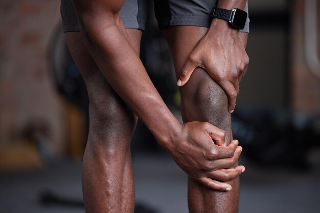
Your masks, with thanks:
[{"label": "hand below the smartwatch, gripping the leg above the knee", "polygon": [[205,69],[226,93],[228,111],[232,113],[249,58],[239,31],[221,26],[218,21],[224,20],[215,19],[212,25],[217,22],[216,26],[211,26],[199,40],[180,71],[177,85],[184,86],[196,67]]}]

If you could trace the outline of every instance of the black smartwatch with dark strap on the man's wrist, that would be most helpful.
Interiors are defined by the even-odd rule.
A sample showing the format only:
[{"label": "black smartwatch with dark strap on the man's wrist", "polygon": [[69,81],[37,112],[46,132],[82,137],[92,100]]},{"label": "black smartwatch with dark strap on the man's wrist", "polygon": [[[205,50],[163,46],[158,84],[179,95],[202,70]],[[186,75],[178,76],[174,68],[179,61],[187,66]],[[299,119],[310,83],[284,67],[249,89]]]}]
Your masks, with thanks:
[{"label": "black smartwatch with dark strap on the man's wrist", "polygon": [[214,8],[211,13],[212,18],[227,20],[233,28],[238,30],[242,30],[244,28],[247,16],[248,14],[239,8],[232,10]]}]

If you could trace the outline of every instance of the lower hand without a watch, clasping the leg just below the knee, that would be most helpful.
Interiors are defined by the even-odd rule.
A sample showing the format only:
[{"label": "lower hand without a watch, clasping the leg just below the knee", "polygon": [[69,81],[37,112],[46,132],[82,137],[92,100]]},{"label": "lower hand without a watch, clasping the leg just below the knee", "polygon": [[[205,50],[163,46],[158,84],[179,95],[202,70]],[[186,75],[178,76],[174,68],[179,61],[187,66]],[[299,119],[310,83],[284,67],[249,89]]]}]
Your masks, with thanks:
[{"label": "lower hand without a watch, clasping the leg just below the knee", "polygon": [[217,191],[230,191],[231,180],[244,171],[244,166],[232,168],[242,147],[233,140],[224,145],[224,131],[208,122],[189,122],[182,125],[180,134],[169,147],[176,164],[191,178]]}]

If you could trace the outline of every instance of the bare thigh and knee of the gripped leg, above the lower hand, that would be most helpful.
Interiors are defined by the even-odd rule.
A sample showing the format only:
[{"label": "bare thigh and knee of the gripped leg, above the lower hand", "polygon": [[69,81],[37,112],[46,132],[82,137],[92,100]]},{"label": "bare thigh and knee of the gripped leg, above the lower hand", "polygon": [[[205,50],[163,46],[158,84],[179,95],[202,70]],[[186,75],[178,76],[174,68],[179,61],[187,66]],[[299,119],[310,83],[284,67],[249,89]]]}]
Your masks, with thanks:
[{"label": "bare thigh and knee of the gripped leg, above the lower hand", "polygon": [[[177,77],[189,54],[207,31],[208,28],[201,26],[172,26],[163,30],[172,52]],[[202,68],[196,68],[188,83],[179,89],[184,122],[210,122],[226,131],[226,142],[230,142],[231,115],[227,111],[227,97],[209,74]]]}]

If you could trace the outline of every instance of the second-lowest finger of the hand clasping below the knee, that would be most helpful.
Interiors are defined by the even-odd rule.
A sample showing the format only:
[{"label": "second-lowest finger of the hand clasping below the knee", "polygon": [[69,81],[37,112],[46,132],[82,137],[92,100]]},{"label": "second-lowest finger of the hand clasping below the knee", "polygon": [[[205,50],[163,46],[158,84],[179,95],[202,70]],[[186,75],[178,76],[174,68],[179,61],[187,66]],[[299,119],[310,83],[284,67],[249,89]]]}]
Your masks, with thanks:
[{"label": "second-lowest finger of the hand clasping below the knee", "polygon": [[220,169],[210,172],[209,177],[215,180],[228,181],[238,177],[242,172],[244,172],[244,166],[237,166],[232,169]]}]

